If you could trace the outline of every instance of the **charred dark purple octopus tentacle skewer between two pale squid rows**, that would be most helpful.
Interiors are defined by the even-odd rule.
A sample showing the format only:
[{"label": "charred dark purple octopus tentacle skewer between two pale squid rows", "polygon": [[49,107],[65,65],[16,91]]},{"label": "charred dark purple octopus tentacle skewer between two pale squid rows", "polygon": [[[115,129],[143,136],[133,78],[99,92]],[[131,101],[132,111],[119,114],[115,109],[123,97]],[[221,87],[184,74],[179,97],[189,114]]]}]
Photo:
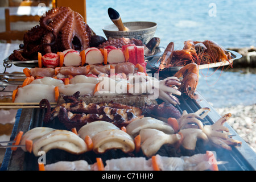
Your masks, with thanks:
[{"label": "charred dark purple octopus tentacle skewer between two pale squid rows", "polygon": [[135,119],[142,118],[143,115],[138,107],[117,103],[86,105],[84,102],[73,102],[56,107],[51,113],[50,120],[55,117],[58,117],[68,129],[75,127],[79,130],[86,123],[98,120],[126,126]]}]

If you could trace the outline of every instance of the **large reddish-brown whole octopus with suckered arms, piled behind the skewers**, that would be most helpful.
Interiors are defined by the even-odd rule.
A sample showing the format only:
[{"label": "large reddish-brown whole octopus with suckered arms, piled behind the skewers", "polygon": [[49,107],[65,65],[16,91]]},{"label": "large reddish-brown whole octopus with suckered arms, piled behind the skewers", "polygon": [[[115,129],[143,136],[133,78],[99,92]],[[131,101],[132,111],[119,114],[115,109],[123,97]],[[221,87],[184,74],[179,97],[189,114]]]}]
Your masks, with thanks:
[{"label": "large reddish-brown whole octopus with suckered arms, piled behind the skewers", "polygon": [[67,49],[82,51],[88,47],[138,44],[140,40],[120,38],[106,40],[96,35],[84,22],[82,16],[70,7],[56,7],[43,15],[39,24],[24,34],[23,44],[9,56],[10,60],[26,61],[38,59],[38,52],[63,52]]}]

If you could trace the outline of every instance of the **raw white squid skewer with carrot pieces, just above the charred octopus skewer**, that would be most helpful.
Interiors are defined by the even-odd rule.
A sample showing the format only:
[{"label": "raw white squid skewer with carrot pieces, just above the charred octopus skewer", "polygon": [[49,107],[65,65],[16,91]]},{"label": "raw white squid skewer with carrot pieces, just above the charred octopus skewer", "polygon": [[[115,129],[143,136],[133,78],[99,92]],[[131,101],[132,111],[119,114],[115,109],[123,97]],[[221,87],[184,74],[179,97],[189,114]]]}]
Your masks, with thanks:
[{"label": "raw white squid skewer with carrot pieces, just above the charred octopus skewer", "polygon": [[27,77],[23,85],[14,90],[14,102],[40,102],[42,99],[55,102],[59,100],[59,94],[71,96],[79,91],[81,96],[144,95],[150,100],[160,98],[176,105],[179,104],[179,100],[174,94],[181,94],[177,90],[176,85],[180,83],[176,77],[158,80],[144,74],[135,74],[128,78],[118,75],[100,77],[77,75],[73,78],[65,78],[64,81],[51,77],[35,80],[31,78],[33,77]]}]

